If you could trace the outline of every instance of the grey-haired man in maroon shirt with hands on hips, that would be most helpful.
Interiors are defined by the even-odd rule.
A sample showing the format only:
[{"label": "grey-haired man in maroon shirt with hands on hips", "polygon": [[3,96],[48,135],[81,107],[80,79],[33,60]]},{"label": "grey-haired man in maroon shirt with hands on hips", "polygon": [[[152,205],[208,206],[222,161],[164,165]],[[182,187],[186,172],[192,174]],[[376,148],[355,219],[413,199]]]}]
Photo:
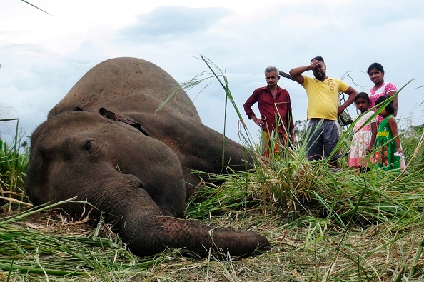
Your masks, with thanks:
[{"label": "grey-haired man in maroon shirt with hands on hips", "polygon": [[[280,80],[279,71],[275,66],[268,66],[265,69],[265,79],[267,86],[260,87],[253,91],[244,106],[244,111],[248,115],[248,119],[253,119],[255,124],[263,129],[263,147],[266,157],[269,156],[269,136],[275,134],[278,130],[278,141],[274,148],[274,153],[280,152],[279,145],[286,146],[287,136],[291,143],[295,141],[293,133],[294,124],[291,111],[290,95],[286,89],[278,86]],[[258,119],[252,110],[252,105],[258,102],[259,113],[261,119]],[[278,126],[278,129],[276,129]],[[275,136],[275,135],[274,135]]]}]

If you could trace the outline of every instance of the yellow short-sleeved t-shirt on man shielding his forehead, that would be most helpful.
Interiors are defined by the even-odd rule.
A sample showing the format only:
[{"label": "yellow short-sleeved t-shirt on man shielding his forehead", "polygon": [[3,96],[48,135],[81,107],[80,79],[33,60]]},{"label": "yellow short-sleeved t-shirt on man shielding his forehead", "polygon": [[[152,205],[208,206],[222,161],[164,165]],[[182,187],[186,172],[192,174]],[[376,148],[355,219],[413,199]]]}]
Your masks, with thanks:
[{"label": "yellow short-sleeved t-shirt on man shielding his forehead", "polygon": [[308,95],[308,119],[337,120],[338,92],[348,90],[349,86],[340,79],[327,78],[319,81],[316,78],[303,76],[302,86]]}]

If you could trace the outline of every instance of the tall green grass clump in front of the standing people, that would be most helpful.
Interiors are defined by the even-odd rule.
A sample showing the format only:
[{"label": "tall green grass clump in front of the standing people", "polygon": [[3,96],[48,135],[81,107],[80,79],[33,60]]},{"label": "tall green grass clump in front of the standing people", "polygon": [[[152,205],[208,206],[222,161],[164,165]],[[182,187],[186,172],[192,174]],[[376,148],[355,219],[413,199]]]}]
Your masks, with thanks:
[{"label": "tall green grass clump in front of the standing people", "polygon": [[[201,56],[201,59],[211,70],[210,74],[205,74],[206,77],[210,78],[212,74],[214,79],[219,81],[227,99],[231,101],[238,113],[241,124],[244,124],[243,117],[228,89],[226,76],[204,56]],[[218,71],[214,71],[214,68]],[[405,86],[409,83],[410,81]],[[398,92],[402,91],[405,86]],[[380,109],[375,112],[374,116],[393,98],[394,96],[382,105],[377,105],[376,107],[380,106]],[[348,150],[355,122],[343,131],[332,155],[342,150]],[[247,130],[241,133],[241,136],[244,136],[243,134],[249,137]],[[399,176],[398,173],[386,173],[377,168],[370,173],[363,174],[347,166],[344,166],[339,173],[333,173],[328,168],[328,160],[306,161],[306,139],[303,137],[301,143],[296,144],[296,147],[284,148],[284,158],[274,156],[266,161],[258,161],[256,169],[248,173],[247,177],[244,174],[216,176],[220,181],[225,181],[223,178],[226,177],[228,179],[223,186],[213,188],[212,191],[222,193],[224,187],[228,187],[230,190],[228,193],[231,196],[215,195],[212,197],[212,201],[220,199],[220,206],[228,208],[234,206],[235,203],[243,203],[243,200],[248,197],[247,195],[261,195],[261,198],[256,196],[256,199],[258,204],[261,203],[264,214],[275,213],[277,209],[277,211],[295,216],[312,216],[313,218],[325,216],[338,222],[341,226],[345,226],[345,223],[351,218],[355,218],[355,222],[361,225],[366,225],[389,220],[397,221],[400,218],[416,218],[422,212],[423,199],[420,195],[423,195],[424,187],[417,187],[415,183],[423,181],[421,176],[423,169],[420,166],[413,166],[413,162],[424,152],[423,134],[421,136],[414,135],[411,139],[415,142],[403,142],[405,151],[410,151],[409,146],[413,146],[415,150],[413,154],[407,154],[408,173],[402,176]],[[255,150],[250,138],[242,140],[249,141],[245,145]],[[271,139],[272,141],[273,139]],[[238,187],[247,187],[247,189]],[[211,191],[210,188],[207,189]],[[223,202],[223,198],[228,199],[228,204]],[[196,211],[199,211],[198,205],[208,208],[206,202],[203,201],[196,204]],[[413,206],[416,207],[416,210],[412,208]]]}]

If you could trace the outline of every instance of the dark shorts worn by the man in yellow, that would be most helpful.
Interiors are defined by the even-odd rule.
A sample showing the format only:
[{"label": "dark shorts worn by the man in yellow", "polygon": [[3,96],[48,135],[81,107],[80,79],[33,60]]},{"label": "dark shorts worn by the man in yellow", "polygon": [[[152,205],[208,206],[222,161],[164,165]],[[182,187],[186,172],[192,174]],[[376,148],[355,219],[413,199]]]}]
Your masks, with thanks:
[{"label": "dark shorts worn by the man in yellow", "polygon": [[328,158],[340,139],[340,125],[329,119],[309,119],[306,132],[306,156],[311,161]]}]

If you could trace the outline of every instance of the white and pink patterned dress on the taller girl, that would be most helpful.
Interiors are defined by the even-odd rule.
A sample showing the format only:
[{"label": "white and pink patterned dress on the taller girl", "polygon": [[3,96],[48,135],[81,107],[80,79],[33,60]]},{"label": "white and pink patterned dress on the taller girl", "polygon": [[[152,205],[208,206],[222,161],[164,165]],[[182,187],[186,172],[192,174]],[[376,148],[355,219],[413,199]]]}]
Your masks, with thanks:
[{"label": "white and pink patterned dress on the taller girl", "polygon": [[[350,145],[349,151],[349,166],[353,168],[367,167],[370,162],[370,158],[367,158],[367,148],[371,143],[371,124],[377,122],[377,118],[371,119],[368,124],[365,124],[371,116],[373,111],[368,111],[366,114],[360,115],[360,119],[355,124],[355,129],[352,137],[352,145]],[[362,127],[361,127],[362,126]]]}]

